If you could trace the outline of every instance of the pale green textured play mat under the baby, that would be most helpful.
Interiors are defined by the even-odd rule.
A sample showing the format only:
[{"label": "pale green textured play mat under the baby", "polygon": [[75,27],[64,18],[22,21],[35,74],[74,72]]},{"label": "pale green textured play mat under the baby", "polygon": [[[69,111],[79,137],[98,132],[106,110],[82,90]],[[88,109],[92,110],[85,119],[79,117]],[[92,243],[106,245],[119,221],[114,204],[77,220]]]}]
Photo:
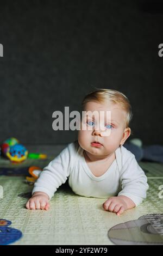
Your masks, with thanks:
[{"label": "pale green textured play mat under the baby", "polygon": [[[103,210],[102,204],[106,199],[77,196],[67,184],[62,185],[51,199],[50,210],[27,210],[24,206],[30,197],[33,186],[24,182],[24,176],[0,175],[0,185],[3,186],[3,198],[0,199],[0,218],[11,221],[10,228],[20,230],[22,233],[22,237],[11,244],[124,244],[122,241],[124,236],[118,236],[114,227],[126,229],[128,222],[130,230],[127,233],[122,233],[128,234],[126,244],[132,242],[136,244],[142,242],[163,243],[163,231],[160,235],[156,234],[156,240],[152,239],[152,236],[150,239],[146,236],[145,241],[142,241],[142,237],[145,235],[137,233],[142,228],[137,223],[146,218],[143,216],[163,213],[163,193],[160,190],[163,185],[163,164],[154,162],[140,162],[139,164],[148,176],[147,199],[137,208],[128,210],[121,216]],[[158,223],[159,230],[163,230],[162,217],[157,222],[157,216],[155,223]],[[135,233],[133,232],[135,229],[132,229],[132,227],[135,228],[135,224],[133,225],[133,222],[130,221],[136,223],[137,231]],[[120,225],[117,226],[118,224]],[[151,228],[151,223],[148,224]],[[145,233],[147,233],[146,230]]]}]

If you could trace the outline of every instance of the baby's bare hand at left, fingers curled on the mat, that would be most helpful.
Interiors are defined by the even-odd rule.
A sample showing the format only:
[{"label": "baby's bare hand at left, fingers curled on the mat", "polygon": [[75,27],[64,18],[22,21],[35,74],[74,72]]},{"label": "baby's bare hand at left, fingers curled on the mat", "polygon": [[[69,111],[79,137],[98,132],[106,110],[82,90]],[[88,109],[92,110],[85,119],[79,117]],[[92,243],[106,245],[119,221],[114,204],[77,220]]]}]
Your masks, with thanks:
[{"label": "baby's bare hand at left, fingers curled on the mat", "polygon": [[34,192],[33,196],[28,200],[26,208],[28,210],[48,210],[49,209],[49,197],[44,192]]}]

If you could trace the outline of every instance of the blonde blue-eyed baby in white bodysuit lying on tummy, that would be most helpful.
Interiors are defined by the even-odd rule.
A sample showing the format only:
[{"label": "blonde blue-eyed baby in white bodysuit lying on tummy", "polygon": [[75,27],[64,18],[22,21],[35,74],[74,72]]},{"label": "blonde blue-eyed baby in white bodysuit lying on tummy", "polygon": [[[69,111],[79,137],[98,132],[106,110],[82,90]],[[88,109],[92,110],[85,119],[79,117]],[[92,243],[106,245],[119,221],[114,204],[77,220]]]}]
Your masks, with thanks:
[{"label": "blonde blue-eyed baby in white bodysuit lying on tummy", "polygon": [[146,198],[147,177],[135,156],[123,147],[131,133],[132,113],[127,97],[116,90],[97,89],[85,96],[82,106],[85,114],[77,141],[68,144],[43,168],[27,209],[48,210],[49,200],[67,178],[74,193],[107,198],[104,210],[117,215]]}]

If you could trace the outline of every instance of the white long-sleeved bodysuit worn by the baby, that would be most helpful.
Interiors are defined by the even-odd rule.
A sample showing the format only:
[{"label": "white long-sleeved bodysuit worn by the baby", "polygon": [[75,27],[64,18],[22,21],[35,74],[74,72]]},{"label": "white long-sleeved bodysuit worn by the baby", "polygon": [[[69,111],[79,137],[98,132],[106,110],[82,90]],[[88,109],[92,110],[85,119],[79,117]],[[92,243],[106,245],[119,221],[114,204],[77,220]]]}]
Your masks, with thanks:
[{"label": "white long-sleeved bodysuit worn by the baby", "polygon": [[121,145],[115,151],[115,160],[106,172],[97,177],[87,166],[78,141],[72,142],[43,168],[32,193],[42,191],[49,199],[66,182],[74,193],[85,197],[109,198],[127,196],[139,205],[146,198],[147,177],[135,156]]}]

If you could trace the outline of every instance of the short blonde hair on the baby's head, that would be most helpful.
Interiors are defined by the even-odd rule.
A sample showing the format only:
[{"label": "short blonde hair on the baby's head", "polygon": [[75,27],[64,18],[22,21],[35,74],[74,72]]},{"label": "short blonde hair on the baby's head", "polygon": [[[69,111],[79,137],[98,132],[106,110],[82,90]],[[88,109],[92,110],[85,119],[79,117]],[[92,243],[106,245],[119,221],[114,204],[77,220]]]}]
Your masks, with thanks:
[{"label": "short blonde hair on the baby's head", "polygon": [[99,103],[115,103],[120,104],[124,111],[126,111],[126,127],[129,126],[130,121],[133,117],[131,105],[128,98],[121,92],[112,89],[99,89],[96,88],[94,92],[87,94],[82,101],[82,109],[89,101],[95,101]]}]

